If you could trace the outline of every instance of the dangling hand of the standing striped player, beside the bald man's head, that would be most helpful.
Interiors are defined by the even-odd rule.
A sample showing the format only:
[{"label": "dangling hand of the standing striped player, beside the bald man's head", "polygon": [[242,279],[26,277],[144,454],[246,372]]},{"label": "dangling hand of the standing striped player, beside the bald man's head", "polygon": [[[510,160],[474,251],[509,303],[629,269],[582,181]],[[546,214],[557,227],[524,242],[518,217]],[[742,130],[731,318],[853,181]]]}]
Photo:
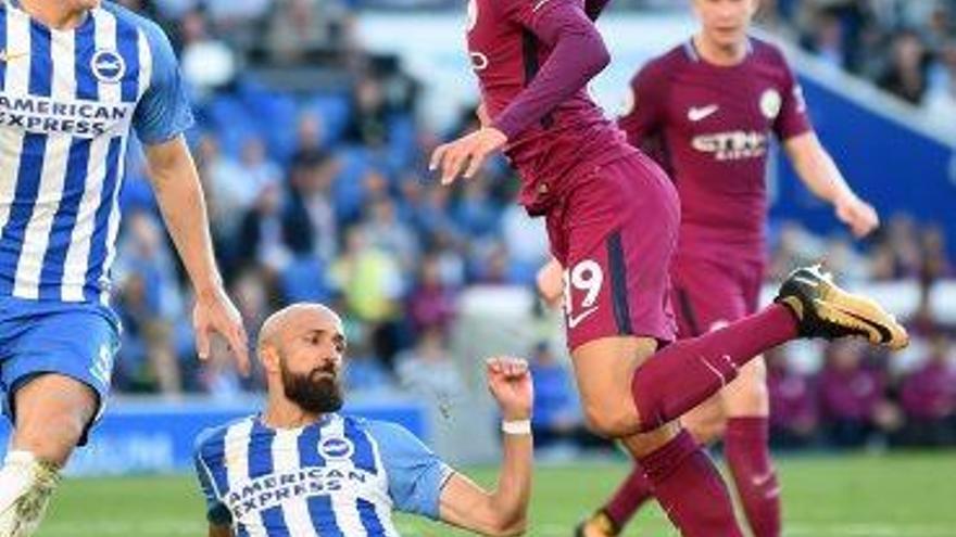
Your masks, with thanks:
[{"label": "dangling hand of the standing striped player, beside the bald man's head", "polygon": [[196,351],[200,360],[209,359],[210,338],[213,333],[217,333],[229,344],[239,372],[249,375],[249,336],[242,327],[239,310],[222,287],[199,293],[192,310],[192,325],[196,329]]}]

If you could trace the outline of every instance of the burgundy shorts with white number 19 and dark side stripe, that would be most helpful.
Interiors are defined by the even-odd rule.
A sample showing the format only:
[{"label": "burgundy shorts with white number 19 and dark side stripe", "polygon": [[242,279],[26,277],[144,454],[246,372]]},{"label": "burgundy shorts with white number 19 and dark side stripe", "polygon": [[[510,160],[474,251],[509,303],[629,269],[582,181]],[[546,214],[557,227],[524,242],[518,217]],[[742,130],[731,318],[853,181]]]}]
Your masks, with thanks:
[{"label": "burgundy shorts with white number 19 and dark side stripe", "polygon": [[546,215],[565,267],[568,348],[619,335],[672,341],[668,267],[680,203],[670,179],[643,154],[587,174]]}]

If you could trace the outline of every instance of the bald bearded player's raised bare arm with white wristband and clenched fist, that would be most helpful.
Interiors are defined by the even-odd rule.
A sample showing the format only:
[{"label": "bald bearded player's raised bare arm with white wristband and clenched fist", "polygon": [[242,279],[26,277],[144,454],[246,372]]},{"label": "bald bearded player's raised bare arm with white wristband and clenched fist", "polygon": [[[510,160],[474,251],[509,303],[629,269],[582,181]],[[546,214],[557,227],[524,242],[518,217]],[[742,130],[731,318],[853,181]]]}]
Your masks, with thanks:
[{"label": "bald bearded player's raised bare arm with white wristband and clenched fist", "polygon": [[521,535],[531,497],[531,374],[525,360],[514,358],[492,358],[487,369],[488,389],[504,418],[504,460],[498,487],[487,491],[455,473],[442,489],[439,514],[449,524],[483,535]]}]

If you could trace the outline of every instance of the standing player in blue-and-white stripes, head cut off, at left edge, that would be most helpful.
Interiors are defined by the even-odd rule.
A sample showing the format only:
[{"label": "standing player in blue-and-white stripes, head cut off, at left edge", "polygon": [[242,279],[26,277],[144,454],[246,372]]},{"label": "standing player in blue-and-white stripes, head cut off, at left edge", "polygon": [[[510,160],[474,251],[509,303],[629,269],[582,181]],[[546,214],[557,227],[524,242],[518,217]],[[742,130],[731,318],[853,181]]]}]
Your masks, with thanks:
[{"label": "standing player in blue-and-white stripes, head cut off, at left edge", "polygon": [[215,266],[176,60],[153,23],[99,0],[0,1],[0,392],[14,424],[0,537],[30,535],[59,470],[102,412],[109,306],[130,130],[193,284],[200,357],[247,338]]}]

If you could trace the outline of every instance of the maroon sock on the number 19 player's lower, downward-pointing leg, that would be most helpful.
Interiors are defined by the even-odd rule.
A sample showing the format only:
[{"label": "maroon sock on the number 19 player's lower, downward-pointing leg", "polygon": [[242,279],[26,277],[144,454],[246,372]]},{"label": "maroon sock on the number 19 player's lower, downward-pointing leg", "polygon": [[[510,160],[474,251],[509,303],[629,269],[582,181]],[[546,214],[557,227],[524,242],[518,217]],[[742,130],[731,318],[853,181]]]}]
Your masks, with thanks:
[{"label": "maroon sock on the number 19 player's lower, downward-pointing leg", "polygon": [[743,537],[720,473],[687,431],[640,462],[683,537]]}]

